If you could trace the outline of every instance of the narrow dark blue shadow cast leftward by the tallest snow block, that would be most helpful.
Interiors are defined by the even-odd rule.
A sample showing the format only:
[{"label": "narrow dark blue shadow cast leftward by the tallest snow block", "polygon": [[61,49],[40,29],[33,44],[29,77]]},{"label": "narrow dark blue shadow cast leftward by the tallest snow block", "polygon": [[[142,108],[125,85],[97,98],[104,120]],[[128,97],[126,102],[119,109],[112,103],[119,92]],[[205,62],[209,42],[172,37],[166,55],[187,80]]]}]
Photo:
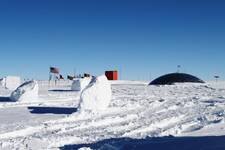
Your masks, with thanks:
[{"label": "narrow dark blue shadow cast leftward by the tallest snow block", "polygon": [[71,107],[27,107],[33,114],[72,114],[77,108]]}]

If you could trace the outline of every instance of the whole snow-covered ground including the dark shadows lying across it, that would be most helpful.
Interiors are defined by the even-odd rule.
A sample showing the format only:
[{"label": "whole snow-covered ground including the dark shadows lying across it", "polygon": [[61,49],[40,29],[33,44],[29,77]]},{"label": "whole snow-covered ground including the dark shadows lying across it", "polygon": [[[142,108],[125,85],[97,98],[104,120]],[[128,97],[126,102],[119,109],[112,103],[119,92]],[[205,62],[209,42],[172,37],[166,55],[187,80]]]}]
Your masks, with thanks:
[{"label": "whole snow-covered ground including the dark shadows lying across it", "polygon": [[0,88],[0,149],[117,149],[146,142],[170,149],[168,141],[178,148],[191,141],[186,149],[201,141],[208,149],[225,148],[225,82],[114,83],[107,111],[98,114],[77,112],[80,92],[70,83],[50,90],[43,84],[38,100],[26,103],[12,102],[10,91]]}]

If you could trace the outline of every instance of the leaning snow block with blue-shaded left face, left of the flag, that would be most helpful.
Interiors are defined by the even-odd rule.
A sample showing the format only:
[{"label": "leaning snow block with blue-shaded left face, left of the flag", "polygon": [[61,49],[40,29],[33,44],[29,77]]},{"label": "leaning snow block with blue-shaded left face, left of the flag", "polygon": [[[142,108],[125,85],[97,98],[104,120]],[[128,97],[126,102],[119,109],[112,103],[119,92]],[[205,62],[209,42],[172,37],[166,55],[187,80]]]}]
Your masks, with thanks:
[{"label": "leaning snow block with blue-shaded left face, left of the flag", "polygon": [[37,81],[27,81],[12,92],[10,99],[12,101],[35,101],[38,99]]}]

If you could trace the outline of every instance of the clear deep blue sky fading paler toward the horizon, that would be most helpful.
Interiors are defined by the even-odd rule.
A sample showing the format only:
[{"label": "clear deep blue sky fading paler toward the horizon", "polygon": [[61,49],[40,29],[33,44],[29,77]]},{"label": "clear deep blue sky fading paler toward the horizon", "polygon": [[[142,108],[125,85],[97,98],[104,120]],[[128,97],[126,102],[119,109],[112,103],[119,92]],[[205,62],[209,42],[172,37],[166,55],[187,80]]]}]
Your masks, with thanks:
[{"label": "clear deep blue sky fading paler toward the horizon", "polygon": [[47,79],[117,69],[149,80],[181,70],[225,79],[223,0],[1,0],[0,76]]}]

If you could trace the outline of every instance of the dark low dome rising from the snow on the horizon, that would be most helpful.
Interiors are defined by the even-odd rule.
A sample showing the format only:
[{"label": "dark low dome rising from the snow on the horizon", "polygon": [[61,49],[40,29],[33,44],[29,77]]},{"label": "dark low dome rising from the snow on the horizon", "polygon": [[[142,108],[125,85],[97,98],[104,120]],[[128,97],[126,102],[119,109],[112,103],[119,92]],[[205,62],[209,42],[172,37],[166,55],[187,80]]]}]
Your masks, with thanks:
[{"label": "dark low dome rising from the snow on the horizon", "polygon": [[170,85],[174,83],[205,83],[203,80],[186,73],[171,73],[153,80],[149,85]]}]

